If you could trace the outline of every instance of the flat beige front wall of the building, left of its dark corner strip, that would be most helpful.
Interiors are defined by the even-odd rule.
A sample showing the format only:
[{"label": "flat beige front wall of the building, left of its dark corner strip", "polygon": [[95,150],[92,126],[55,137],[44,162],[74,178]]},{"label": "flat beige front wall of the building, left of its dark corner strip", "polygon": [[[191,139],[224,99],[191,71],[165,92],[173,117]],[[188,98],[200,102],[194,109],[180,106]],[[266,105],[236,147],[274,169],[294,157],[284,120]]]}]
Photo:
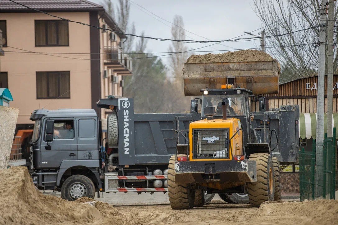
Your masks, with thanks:
[{"label": "flat beige front wall of the building, left of its dark corner strip", "polygon": [[[55,12],[53,15],[89,24],[89,12]],[[42,107],[91,108],[90,54],[56,54],[90,53],[90,28],[69,22],[69,47],[35,47],[34,20],[51,19],[40,13],[0,14],[0,20],[6,20],[8,46],[70,57],[13,52],[1,56],[1,72],[8,72],[8,88],[14,98],[10,106],[19,108],[18,124],[31,123],[31,112]],[[22,51],[10,47],[3,50]],[[70,71],[70,99],[37,99],[37,71]]]}]

